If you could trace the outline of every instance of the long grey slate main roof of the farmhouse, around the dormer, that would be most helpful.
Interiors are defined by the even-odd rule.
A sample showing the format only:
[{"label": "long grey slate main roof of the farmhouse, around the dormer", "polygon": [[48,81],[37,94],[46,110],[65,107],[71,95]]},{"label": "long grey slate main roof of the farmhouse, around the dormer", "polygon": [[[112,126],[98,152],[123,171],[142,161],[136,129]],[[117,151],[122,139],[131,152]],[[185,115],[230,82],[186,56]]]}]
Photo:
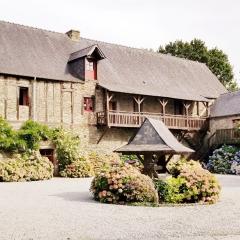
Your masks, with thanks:
[{"label": "long grey slate main roof of the farmhouse, around the dormer", "polygon": [[0,73],[80,81],[69,73],[69,58],[93,45],[106,56],[98,62],[98,82],[108,90],[196,101],[226,92],[202,63],[86,38],[76,42],[63,33],[3,21]]}]

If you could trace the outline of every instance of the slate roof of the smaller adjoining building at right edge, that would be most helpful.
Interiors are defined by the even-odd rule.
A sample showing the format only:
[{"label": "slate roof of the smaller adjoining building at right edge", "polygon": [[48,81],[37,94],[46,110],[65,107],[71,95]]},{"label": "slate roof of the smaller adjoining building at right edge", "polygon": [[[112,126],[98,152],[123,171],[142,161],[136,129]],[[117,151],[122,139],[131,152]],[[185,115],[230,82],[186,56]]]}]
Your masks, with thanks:
[{"label": "slate roof of the smaller adjoining building at right edge", "polygon": [[210,110],[212,118],[240,115],[240,91],[220,95]]}]

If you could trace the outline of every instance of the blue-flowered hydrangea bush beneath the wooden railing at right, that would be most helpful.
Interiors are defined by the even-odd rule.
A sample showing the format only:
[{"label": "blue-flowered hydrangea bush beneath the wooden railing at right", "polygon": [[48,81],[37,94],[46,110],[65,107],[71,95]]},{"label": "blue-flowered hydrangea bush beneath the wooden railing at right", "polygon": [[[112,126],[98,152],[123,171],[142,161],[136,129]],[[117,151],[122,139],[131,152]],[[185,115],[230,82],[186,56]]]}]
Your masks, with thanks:
[{"label": "blue-flowered hydrangea bush beneath the wooden railing at right", "polygon": [[232,173],[231,165],[237,150],[236,147],[228,145],[223,145],[221,148],[214,150],[212,156],[209,157],[207,169],[220,174]]}]

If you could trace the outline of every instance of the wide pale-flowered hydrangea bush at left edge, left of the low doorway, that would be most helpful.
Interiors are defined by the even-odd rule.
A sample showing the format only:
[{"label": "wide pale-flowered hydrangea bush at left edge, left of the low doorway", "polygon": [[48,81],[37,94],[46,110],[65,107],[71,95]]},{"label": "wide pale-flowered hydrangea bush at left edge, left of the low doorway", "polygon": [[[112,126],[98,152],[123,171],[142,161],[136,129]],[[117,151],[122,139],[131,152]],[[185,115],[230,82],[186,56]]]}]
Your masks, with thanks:
[{"label": "wide pale-flowered hydrangea bush at left edge, left of the low doorway", "polygon": [[32,152],[30,156],[16,155],[13,159],[0,162],[1,182],[37,181],[52,176],[52,163],[39,152]]}]

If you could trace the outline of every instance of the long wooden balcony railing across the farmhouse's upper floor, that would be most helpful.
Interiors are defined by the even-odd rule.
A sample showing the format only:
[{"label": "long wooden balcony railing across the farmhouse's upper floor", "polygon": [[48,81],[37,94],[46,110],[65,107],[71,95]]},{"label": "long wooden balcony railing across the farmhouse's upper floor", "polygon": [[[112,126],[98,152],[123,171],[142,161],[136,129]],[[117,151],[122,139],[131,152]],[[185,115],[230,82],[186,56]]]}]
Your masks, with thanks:
[{"label": "long wooden balcony railing across the farmhouse's upper floor", "polygon": [[108,111],[97,113],[97,124],[108,127],[137,128],[141,126],[146,117],[162,120],[169,129],[199,130],[206,123],[206,118],[201,117]]}]

